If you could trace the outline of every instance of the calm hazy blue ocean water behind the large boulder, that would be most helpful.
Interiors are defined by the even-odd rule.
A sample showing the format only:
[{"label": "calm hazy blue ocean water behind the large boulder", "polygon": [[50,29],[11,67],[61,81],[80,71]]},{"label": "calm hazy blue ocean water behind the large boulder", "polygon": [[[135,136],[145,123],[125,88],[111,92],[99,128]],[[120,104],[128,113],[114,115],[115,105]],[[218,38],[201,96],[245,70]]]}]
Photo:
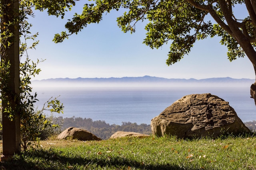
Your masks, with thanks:
[{"label": "calm hazy blue ocean water behind the large boulder", "polygon": [[109,124],[146,123],[166,107],[188,94],[211,93],[229,102],[243,122],[256,120],[250,86],[244,87],[35,87],[42,108],[50,97],[64,105],[62,117],[82,117]]}]

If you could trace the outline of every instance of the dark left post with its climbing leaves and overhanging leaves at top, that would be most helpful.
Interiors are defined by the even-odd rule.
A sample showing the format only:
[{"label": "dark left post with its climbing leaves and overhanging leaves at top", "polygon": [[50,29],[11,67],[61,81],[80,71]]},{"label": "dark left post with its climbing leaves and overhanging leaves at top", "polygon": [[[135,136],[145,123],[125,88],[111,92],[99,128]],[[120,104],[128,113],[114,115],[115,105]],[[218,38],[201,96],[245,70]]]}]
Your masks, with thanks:
[{"label": "dark left post with its climbing leaves and overhanging leaves at top", "polygon": [[[76,1],[76,0],[75,0]],[[10,145],[6,147],[4,154],[12,154],[19,152],[20,147],[20,127],[22,145],[26,149],[28,140],[34,140],[38,135],[37,129],[33,123],[38,123],[45,119],[42,113],[34,110],[34,102],[36,102],[36,94],[31,94],[30,76],[35,76],[40,72],[36,69],[39,63],[30,64],[27,50],[35,48],[38,41],[33,42],[31,47],[27,46],[27,40],[34,40],[37,33],[31,35],[29,29],[31,25],[28,23],[28,16],[33,16],[32,9],[46,10],[49,15],[64,16],[64,12],[71,9],[75,5],[74,0],[2,0],[0,2],[0,94],[2,99],[2,115],[4,126],[4,143],[10,141]],[[67,9],[66,9],[67,8]],[[24,37],[24,42],[19,41]],[[20,48],[18,45],[20,42]],[[23,42],[23,43],[21,43]],[[20,57],[26,55],[24,63],[20,63]],[[20,75],[19,75],[20,73]],[[62,105],[58,100],[48,101],[48,106],[52,107],[50,111],[62,111]],[[44,123],[47,123],[45,121]],[[34,129],[33,129],[33,128]],[[31,129],[32,128],[32,129]],[[30,135],[30,136],[29,136]],[[31,139],[32,137],[32,139]]]}]

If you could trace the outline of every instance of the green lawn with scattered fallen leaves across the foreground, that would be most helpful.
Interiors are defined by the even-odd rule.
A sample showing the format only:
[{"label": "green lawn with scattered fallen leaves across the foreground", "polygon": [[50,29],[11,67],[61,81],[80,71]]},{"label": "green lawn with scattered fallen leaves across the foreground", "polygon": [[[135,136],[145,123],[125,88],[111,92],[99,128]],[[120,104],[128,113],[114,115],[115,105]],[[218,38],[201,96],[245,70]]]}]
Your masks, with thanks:
[{"label": "green lawn with scattered fallen leaves across the foreground", "polygon": [[256,170],[256,137],[41,141],[0,162],[7,170]]}]

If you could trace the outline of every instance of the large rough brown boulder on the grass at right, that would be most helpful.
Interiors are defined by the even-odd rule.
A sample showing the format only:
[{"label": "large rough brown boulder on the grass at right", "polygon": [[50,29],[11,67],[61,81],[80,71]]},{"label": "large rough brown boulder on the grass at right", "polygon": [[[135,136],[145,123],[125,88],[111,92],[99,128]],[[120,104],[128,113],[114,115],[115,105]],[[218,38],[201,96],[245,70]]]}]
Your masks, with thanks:
[{"label": "large rough brown boulder on the grass at right", "polygon": [[212,94],[184,96],[151,120],[153,135],[178,138],[249,133],[228,102]]}]

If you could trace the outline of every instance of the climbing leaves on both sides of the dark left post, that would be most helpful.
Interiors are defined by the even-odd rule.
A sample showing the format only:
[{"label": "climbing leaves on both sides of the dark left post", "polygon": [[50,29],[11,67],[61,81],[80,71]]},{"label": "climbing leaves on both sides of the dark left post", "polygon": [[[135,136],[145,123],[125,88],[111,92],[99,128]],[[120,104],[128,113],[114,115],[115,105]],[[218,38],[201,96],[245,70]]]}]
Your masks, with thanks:
[{"label": "climbing leaves on both sides of the dark left post", "polygon": [[[20,16],[18,21],[13,21],[13,23],[5,24],[6,31],[2,31],[1,37],[1,94],[9,95],[11,94],[8,85],[8,75],[10,64],[8,61],[4,61],[6,59],[3,57],[5,54],[6,48],[8,48],[11,43],[7,42],[10,37],[12,37],[12,33],[9,33],[8,27],[12,26],[14,23],[19,22],[19,33],[20,33],[20,61],[25,60],[20,63],[20,86],[19,93],[14,95],[14,100],[19,101],[18,105],[15,109],[11,106],[4,108],[5,112],[9,112],[9,118],[13,119],[14,115],[18,112],[20,114],[20,129],[21,129],[21,145],[24,150],[27,149],[29,145],[31,145],[31,141],[38,141],[39,137],[42,137],[42,132],[48,129],[49,134],[52,135],[54,133],[54,128],[57,125],[53,125],[51,122],[52,117],[46,118],[46,115],[43,111],[49,110],[52,112],[60,113],[62,112],[63,106],[60,104],[60,101],[56,98],[54,100],[48,100],[45,106],[41,110],[35,110],[34,103],[37,101],[37,94],[32,93],[31,85],[31,77],[34,77],[36,74],[39,74],[41,71],[37,69],[36,66],[38,63],[42,62],[37,60],[37,62],[31,61],[28,57],[28,50],[35,49],[38,41],[35,41],[38,33],[32,34],[30,32],[31,24],[28,23],[28,16],[33,16],[32,12],[32,3],[30,1],[20,1]],[[3,36],[4,35],[4,36]],[[32,45],[28,46],[28,41],[32,40]],[[6,46],[7,44],[8,46]],[[3,98],[3,100],[6,100]],[[8,99],[11,100],[11,99]],[[9,101],[6,102],[9,104]],[[2,113],[2,112],[1,112]],[[2,117],[2,114],[1,114]],[[1,120],[2,123],[2,120]],[[52,126],[55,126],[54,128]],[[50,131],[51,130],[51,131]],[[40,136],[41,135],[41,136]],[[44,135],[46,137],[46,135]]]}]

